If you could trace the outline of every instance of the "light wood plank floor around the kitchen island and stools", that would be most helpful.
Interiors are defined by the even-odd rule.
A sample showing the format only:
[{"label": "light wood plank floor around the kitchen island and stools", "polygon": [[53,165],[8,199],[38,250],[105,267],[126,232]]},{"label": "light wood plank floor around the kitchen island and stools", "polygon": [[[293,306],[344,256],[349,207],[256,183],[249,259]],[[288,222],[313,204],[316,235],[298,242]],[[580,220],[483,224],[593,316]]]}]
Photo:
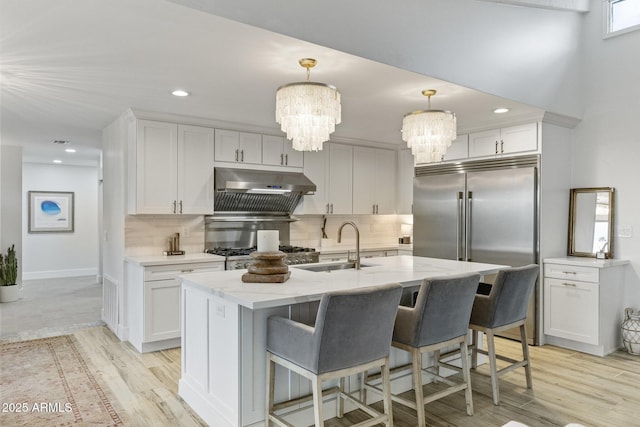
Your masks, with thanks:
[{"label": "light wood plank floor around the kitchen island and stools", "polygon": [[[131,425],[206,425],[177,395],[180,349],[140,354],[106,327],[73,335]],[[497,342],[499,350],[513,356],[519,346],[505,339]],[[640,426],[640,357],[618,351],[601,358],[552,346],[531,347],[531,357],[533,391],[525,388],[522,369],[509,373],[500,381],[501,404],[494,406],[488,377],[472,373],[475,414],[467,416],[463,393],[454,394],[426,406],[429,425],[502,426],[516,420],[532,427]],[[433,386],[425,389],[429,387]],[[393,413],[396,427],[416,425],[411,409],[394,403]],[[325,425],[349,426],[362,419],[356,411]]]}]

